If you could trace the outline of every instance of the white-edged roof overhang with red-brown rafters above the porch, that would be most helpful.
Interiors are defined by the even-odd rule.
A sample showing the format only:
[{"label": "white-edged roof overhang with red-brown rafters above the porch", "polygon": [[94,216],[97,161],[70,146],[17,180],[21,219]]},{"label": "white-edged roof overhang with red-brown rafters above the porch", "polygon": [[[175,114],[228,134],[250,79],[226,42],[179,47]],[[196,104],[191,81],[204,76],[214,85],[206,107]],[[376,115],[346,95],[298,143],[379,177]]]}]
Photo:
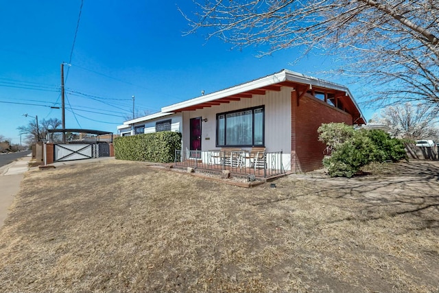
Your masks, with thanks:
[{"label": "white-edged roof overhang with red-brown rafters above the porch", "polygon": [[[265,95],[267,91],[281,91],[282,86],[288,86],[294,90],[301,89],[302,91],[305,91],[305,89],[314,89],[317,91],[331,90],[337,94],[337,97],[346,100],[346,106],[348,106],[351,115],[353,115],[355,123],[366,124],[357,102],[355,102],[353,95],[346,86],[335,84],[333,82],[327,82],[326,80],[313,78],[311,76],[286,69],[257,80],[252,80],[251,82],[246,82],[244,84],[239,84],[237,86],[224,89],[222,91],[217,91],[208,95],[188,99],[184,102],[165,106],[161,110],[162,113],[169,114],[187,110],[198,110],[224,103],[230,103],[232,101],[239,101],[240,99],[251,98],[253,95]],[[129,124],[128,122],[130,121],[127,121],[124,124]],[[131,122],[131,124],[132,123],[133,122]]]}]

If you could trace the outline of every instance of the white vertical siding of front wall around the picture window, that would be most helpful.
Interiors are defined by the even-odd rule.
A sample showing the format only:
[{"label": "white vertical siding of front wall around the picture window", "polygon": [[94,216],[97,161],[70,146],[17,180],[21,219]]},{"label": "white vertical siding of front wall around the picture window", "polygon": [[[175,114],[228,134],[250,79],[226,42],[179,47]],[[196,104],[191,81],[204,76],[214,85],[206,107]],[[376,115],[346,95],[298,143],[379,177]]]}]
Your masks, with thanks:
[{"label": "white vertical siding of front wall around the picture window", "polygon": [[287,87],[281,88],[281,91],[267,91],[265,95],[230,101],[228,104],[185,111],[182,116],[182,123],[185,125],[182,132],[182,150],[189,150],[191,118],[207,118],[207,122],[202,122],[201,125],[201,147],[202,150],[215,150],[217,113],[262,105],[265,106],[265,148],[267,152],[283,151],[283,167],[286,170],[291,169],[291,89]]}]

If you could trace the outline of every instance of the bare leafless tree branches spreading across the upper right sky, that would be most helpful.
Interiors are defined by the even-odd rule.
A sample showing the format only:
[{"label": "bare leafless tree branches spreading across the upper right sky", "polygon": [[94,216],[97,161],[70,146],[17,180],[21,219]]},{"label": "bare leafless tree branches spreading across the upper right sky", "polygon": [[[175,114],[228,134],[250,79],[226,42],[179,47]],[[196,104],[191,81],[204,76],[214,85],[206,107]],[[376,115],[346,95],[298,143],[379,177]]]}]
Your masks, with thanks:
[{"label": "bare leafless tree branches spreading across the upper right sky", "polygon": [[[437,0],[207,0],[182,12],[206,38],[261,55],[296,47],[342,59],[331,74],[373,84],[368,100],[439,103]],[[340,64],[340,63],[339,63]]]}]

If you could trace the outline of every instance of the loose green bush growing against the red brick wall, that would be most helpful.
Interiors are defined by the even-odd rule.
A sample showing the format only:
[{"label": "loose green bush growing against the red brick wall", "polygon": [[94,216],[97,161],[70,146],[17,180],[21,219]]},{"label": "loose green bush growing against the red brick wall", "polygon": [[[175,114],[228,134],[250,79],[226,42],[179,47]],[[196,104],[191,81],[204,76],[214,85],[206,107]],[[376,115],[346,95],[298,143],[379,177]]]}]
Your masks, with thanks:
[{"label": "loose green bush growing against the red brick wall", "polygon": [[383,130],[354,130],[346,124],[322,124],[319,140],[332,154],[323,159],[331,177],[352,177],[372,162],[400,161],[406,157],[403,141],[392,139]]}]

